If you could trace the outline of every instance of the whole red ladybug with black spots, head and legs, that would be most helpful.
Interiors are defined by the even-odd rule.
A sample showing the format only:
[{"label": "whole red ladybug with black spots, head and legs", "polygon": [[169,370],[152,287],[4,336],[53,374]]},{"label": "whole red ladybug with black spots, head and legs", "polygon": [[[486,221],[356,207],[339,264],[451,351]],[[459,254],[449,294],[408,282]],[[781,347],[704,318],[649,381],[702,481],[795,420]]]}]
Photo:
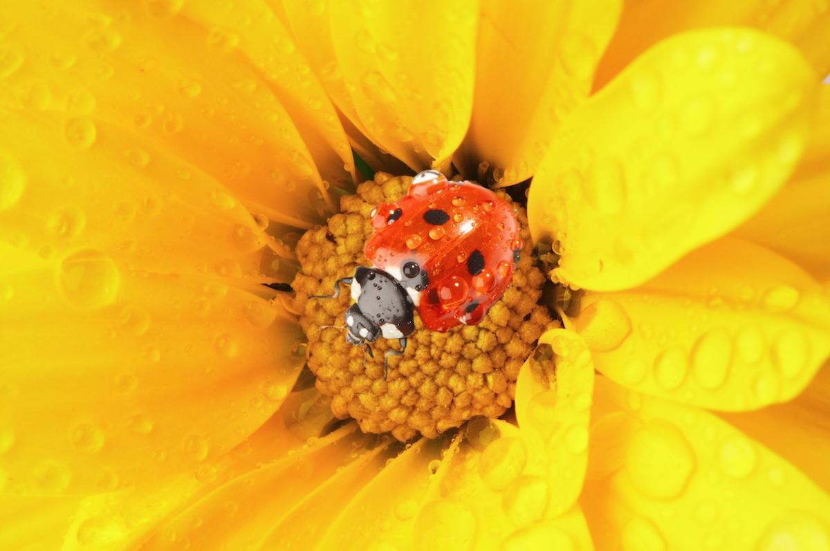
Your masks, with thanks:
[{"label": "whole red ladybug with black spots, head and legs", "polygon": [[401,345],[384,354],[386,378],[388,357],[402,355],[415,330],[414,311],[432,331],[478,324],[510,285],[522,242],[508,202],[435,170],[418,173],[398,202],[378,205],[371,224],[364,256],[373,266],[337,280],[334,295],[313,298],[351,285],[346,340],[367,349],[379,337]]}]

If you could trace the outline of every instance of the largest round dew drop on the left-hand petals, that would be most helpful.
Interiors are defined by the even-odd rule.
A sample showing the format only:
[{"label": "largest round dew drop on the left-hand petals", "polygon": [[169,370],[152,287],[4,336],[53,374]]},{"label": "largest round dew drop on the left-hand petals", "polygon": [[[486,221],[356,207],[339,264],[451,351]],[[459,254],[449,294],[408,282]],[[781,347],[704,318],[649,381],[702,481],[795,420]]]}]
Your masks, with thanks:
[{"label": "largest round dew drop on the left-hand petals", "polygon": [[81,308],[101,308],[115,302],[121,277],[115,262],[100,251],[67,256],[58,272],[66,299]]}]

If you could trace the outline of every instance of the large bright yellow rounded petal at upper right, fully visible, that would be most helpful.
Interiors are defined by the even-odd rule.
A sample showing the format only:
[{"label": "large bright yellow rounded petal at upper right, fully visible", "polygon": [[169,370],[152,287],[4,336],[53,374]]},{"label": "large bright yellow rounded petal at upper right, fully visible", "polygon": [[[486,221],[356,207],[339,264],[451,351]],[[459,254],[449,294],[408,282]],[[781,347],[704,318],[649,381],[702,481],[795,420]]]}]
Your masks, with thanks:
[{"label": "large bright yellow rounded petal at upper right, fully visible", "polygon": [[792,46],[747,29],[647,51],[565,121],[530,186],[554,277],[631,287],[743,222],[798,159],[814,87]]}]

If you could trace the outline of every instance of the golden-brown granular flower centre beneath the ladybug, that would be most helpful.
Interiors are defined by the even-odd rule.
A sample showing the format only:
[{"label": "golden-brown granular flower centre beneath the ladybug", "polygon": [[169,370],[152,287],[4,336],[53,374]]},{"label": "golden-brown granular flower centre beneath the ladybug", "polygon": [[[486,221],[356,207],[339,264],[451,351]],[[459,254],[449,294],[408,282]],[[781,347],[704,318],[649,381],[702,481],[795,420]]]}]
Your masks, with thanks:
[{"label": "golden-brown granular flower centre beneath the ladybug", "polygon": [[[339,418],[353,417],[364,432],[391,432],[401,441],[418,433],[435,437],[478,415],[498,417],[510,407],[515,381],[535,342],[551,324],[548,310],[538,305],[543,273],[531,256],[525,209],[514,204],[524,243],[510,287],[477,325],[438,333],[423,329],[415,315],[415,333],[403,357],[389,359],[383,379],[383,353],[399,349],[397,341],[378,339],[374,358],[344,339],[344,312],[349,289],[331,295],[334,282],[370,266],[364,243],[372,234],[370,213],[381,202],[395,202],[407,193],[412,178],[377,173],[359,185],[357,194],[341,197],[340,212],[323,227],[309,230],[296,251],[300,272],[291,286],[295,308],[308,338],[308,366],[316,387],[331,397]],[[500,196],[511,202],[505,193]]]}]

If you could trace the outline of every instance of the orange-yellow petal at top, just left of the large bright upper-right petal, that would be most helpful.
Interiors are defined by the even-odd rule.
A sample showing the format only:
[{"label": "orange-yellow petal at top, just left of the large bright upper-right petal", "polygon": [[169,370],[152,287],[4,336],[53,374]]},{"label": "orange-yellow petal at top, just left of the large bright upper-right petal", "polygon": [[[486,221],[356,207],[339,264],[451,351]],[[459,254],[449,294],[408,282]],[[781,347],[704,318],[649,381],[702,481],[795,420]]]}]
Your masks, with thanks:
[{"label": "orange-yellow petal at top, just left of the large bright upper-right petal", "polygon": [[455,162],[471,177],[483,162],[497,186],[530,178],[588,96],[621,3],[482,2],[472,119]]}]

